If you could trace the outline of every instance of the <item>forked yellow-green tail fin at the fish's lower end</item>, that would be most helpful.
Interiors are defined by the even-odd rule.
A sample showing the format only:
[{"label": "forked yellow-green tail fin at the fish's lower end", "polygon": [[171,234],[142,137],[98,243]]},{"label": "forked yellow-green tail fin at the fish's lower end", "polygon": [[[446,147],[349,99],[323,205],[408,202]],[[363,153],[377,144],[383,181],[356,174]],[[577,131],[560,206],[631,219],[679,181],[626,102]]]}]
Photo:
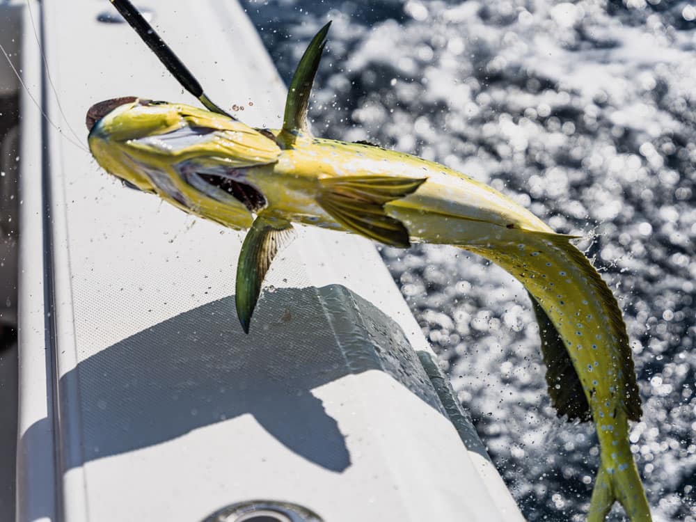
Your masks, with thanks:
[{"label": "forked yellow-green tail fin at the fish's lower end", "polygon": [[631,522],[649,522],[652,520],[648,501],[645,498],[645,492],[638,475],[638,468],[635,467],[633,458],[629,458],[631,464],[618,468],[606,466],[605,460],[602,459],[599,473],[597,473],[594,482],[587,522],[603,522],[615,501],[624,507]]}]

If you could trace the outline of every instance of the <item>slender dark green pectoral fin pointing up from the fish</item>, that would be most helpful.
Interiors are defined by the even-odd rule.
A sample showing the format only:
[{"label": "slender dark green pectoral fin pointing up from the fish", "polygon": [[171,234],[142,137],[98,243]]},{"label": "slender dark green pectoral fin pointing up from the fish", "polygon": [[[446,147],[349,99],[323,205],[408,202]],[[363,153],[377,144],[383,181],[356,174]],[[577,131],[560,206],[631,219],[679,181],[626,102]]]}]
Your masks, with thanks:
[{"label": "slender dark green pectoral fin pointing up from the fish", "polygon": [[331,26],[331,22],[319,30],[297,65],[295,74],[290,82],[290,88],[287,90],[285,115],[283,116],[283,133],[291,135],[296,134],[297,131],[309,133],[307,125],[309,95],[314,83],[314,77],[319,68],[319,61],[322,59],[329,26]]}]

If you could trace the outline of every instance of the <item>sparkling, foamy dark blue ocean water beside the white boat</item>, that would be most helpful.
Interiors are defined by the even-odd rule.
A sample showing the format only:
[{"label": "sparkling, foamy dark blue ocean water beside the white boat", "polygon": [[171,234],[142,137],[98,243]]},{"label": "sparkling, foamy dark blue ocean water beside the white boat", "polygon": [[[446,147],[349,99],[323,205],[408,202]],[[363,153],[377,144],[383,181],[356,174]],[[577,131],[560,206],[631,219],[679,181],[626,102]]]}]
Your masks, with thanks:
[{"label": "sparkling, foamy dark blue ocean water beside the white boat", "polygon": [[[696,521],[696,3],[244,6],[286,81],[333,19],[317,134],[439,161],[583,236],[624,310],[644,410],[632,450],[654,518]],[[521,285],[450,247],[381,253],[523,514],[583,520],[596,436],[551,408]]]}]

